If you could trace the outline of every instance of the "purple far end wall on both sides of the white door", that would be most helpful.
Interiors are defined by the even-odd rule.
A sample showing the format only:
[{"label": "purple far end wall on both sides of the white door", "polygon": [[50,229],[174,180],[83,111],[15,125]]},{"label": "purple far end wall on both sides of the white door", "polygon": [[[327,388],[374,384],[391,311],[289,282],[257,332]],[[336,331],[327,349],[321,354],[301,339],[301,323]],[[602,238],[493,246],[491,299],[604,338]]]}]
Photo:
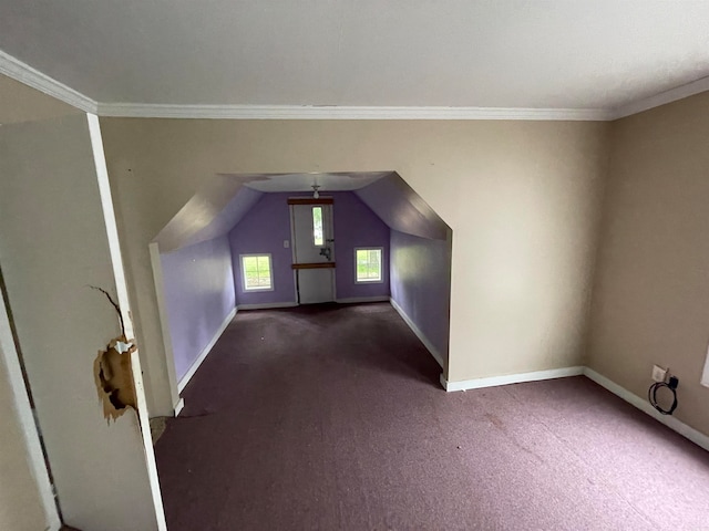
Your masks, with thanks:
[{"label": "purple far end wall on both sides of the white door", "polygon": [[[290,242],[290,209],[287,200],[302,194],[265,194],[229,232],[234,259],[234,285],[237,304],[295,303],[296,287]],[[338,299],[389,296],[389,227],[351,191],[325,192],[335,200],[336,296]],[[310,197],[309,195],[302,195]],[[381,247],[384,254],[384,282],[354,282],[354,248]],[[274,290],[245,292],[242,282],[240,254],[270,253]]]}]

